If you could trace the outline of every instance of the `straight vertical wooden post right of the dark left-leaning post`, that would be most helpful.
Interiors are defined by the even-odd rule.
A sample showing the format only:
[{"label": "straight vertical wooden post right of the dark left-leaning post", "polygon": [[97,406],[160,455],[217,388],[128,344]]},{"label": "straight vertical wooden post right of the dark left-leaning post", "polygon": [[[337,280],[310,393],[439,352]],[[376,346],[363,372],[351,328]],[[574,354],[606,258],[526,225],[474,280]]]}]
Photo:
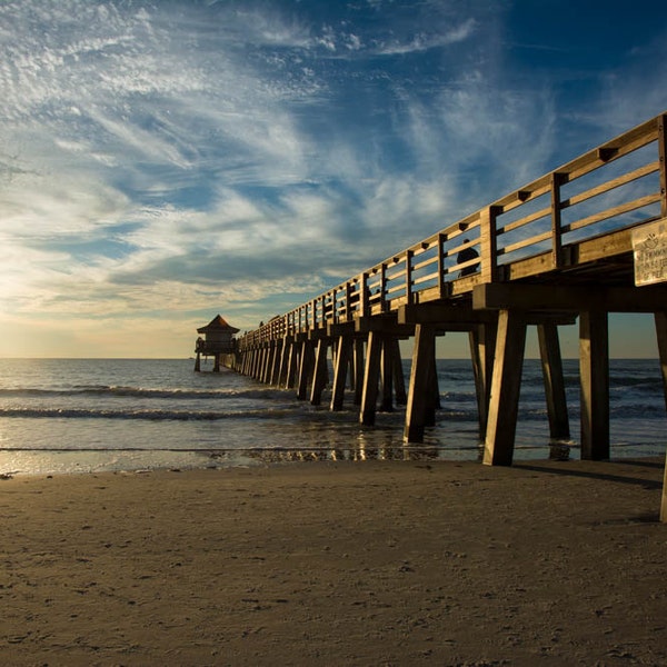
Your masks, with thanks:
[{"label": "straight vertical wooden post right of the dark left-leaning post", "polygon": [[609,458],[609,334],[607,313],[579,315],[581,458]]}]

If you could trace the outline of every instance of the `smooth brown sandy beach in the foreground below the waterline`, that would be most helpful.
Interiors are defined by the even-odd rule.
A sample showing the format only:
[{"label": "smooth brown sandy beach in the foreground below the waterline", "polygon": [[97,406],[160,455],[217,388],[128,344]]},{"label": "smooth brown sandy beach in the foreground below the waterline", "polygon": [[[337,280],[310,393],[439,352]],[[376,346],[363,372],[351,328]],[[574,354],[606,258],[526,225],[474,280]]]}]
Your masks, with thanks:
[{"label": "smooth brown sandy beach in the foreground below the waterline", "polygon": [[663,461],[0,481],[2,665],[665,665]]}]

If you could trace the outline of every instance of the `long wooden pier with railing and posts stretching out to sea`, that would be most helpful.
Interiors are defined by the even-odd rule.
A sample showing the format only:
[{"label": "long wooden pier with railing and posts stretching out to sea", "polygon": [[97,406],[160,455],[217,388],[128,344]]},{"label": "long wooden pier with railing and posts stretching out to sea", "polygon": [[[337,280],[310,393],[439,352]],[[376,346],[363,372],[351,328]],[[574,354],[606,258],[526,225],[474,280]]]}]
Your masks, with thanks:
[{"label": "long wooden pier with railing and posts stretching out to sea", "polygon": [[[406,442],[439,407],[436,337],[466,331],[484,462],[511,465],[528,326],[537,327],[550,435],[569,437],[558,330],[579,326],[581,457],[609,458],[610,312],[654,315],[667,399],[667,115],[522,186],[273,318],[222,362],[359,420],[406,405]],[[408,390],[399,340],[414,338]],[[327,359],[334,377],[328,377]],[[667,520],[667,496],[661,518]]]}]

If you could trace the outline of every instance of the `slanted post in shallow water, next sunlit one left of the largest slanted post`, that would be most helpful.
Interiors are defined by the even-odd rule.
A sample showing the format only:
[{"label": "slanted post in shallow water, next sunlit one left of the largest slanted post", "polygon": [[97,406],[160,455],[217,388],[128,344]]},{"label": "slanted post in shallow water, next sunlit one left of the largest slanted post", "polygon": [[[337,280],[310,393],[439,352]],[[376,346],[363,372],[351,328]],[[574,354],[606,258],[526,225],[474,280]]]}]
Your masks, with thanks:
[{"label": "slanted post in shallow water, next sunlit one left of the largest slanted post", "polygon": [[415,327],[410,386],[406,407],[405,442],[422,442],[424,428],[432,390],[432,364],[436,352],[436,330],[428,325]]}]

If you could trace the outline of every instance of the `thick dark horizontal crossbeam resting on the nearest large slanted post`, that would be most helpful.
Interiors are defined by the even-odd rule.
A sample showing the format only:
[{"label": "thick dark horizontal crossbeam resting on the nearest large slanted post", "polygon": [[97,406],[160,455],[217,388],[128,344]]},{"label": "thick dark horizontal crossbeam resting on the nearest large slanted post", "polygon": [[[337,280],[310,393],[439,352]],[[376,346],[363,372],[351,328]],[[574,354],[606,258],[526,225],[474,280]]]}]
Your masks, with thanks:
[{"label": "thick dark horizontal crossbeam resting on the nearest large slanted post", "polygon": [[498,282],[478,285],[472,307],[488,309],[563,310],[579,312],[599,309],[607,312],[655,312],[667,302],[667,286],[585,287]]}]

